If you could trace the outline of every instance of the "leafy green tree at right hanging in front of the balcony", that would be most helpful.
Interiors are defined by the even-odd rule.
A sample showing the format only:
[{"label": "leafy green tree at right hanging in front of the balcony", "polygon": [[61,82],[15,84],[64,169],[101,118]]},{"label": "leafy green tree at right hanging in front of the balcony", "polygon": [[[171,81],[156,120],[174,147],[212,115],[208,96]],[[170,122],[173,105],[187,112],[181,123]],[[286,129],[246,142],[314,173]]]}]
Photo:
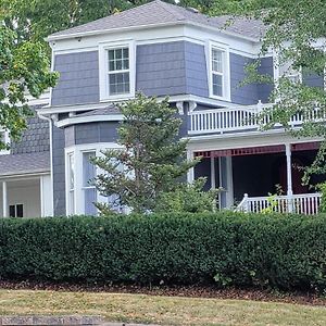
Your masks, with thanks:
[{"label": "leafy green tree at right hanging in front of the balcony", "polygon": [[[267,10],[253,11],[267,27],[263,38],[262,53],[271,49],[277,54],[276,65],[285,74],[275,84],[272,101],[273,114],[266,111],[271,123],[267,128],[280,123],[294,137],[321,137],[324,139],[315,162],[306,168],[309,175],[326,173],[326,91],[313,87],[304,78],[293,79],[293,72],[304,76],[324,78],[326,67],[326,2],[324,0],[279,0]],[[302,128],[294,130],[290,121],[294,114],[303,118]]]}]

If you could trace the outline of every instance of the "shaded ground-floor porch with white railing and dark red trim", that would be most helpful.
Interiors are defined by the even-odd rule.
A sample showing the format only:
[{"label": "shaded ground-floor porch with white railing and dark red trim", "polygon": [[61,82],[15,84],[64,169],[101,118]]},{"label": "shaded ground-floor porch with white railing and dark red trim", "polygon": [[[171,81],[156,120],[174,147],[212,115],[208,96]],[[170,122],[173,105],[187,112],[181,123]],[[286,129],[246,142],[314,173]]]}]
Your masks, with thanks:
[{"label": "shaded ground-floor porch with white railing and dark red trim", "polygon": [[193,177],[205,176],[206,189],[223,189],[221,209],[316,214],[321,195],[310,186],[325,178],[314,176],[310,186],[301,179],[302,167],[313,162],[317,149],[318,142],[302,142],[195,151],[202,161]]}]

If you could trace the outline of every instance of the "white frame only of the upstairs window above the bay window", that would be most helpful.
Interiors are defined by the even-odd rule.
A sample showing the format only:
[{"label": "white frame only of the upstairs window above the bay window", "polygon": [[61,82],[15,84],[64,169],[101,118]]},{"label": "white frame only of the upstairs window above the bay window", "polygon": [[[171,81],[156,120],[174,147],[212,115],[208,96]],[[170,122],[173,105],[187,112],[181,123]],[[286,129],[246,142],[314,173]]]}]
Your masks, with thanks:
[{"label": "white frame only of the upstairs window above the bay window", "polygon": [[[129,50],[129,92],[121,95],[110,95],[109,89],[109,50],[128,48]],[[116,73],[127,71],[116,71]],[[133,40],[121,42],[103,42],[99,45],[99,83],[100,101],[120,101],[135,98],[136,90],[136,45]]]}]

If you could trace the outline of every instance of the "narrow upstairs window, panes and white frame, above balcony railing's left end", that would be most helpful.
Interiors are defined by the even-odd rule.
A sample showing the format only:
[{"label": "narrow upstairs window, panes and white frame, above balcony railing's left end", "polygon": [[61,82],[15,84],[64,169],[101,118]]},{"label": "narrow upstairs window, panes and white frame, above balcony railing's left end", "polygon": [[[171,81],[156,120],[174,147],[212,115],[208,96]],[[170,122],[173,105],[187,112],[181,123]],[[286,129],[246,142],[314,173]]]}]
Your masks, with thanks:
[{"label": "narrow upstairs window, panes and white frame, above balcony railing's left end", "polygon": [[229,101],[229,57],[227,49],[209,45],[209,86],[212,98]]}]

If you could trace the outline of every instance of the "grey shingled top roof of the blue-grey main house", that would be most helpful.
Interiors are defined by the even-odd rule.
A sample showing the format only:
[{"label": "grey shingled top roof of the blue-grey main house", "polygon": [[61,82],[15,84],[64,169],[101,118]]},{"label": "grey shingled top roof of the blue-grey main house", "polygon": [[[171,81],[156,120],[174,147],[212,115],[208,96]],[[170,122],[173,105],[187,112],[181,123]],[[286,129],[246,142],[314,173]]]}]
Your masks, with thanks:
[{"label": "grey shingled top roof of the blue-grey main house", "polygon": [[48,40],[70,38],[82,35],[102,34],[109,30],[158,26],[168,24],[195,24],[217,28],[227,34],[250,38],[259,41],[265,28],[261,21],[243,17],[233,18],[233,24],[226,23],[230,16],[210,17],[191,9],[155,0],[117,14],[54,33]]}]

